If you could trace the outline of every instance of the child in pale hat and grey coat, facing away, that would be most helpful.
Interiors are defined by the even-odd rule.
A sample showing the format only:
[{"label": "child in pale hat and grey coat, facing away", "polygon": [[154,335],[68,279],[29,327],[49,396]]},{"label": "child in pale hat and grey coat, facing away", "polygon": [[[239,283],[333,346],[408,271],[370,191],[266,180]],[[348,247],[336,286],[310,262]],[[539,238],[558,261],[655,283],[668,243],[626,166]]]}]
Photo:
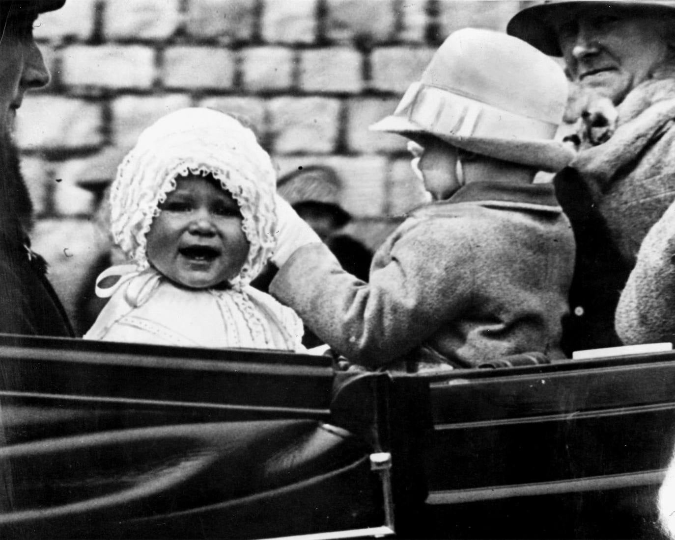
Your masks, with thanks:
[{"label": "child in pale hat and grey coat, facing away", "polygon": [[552,140],[566,96],[562,69],[528,44],[487,30],[452,34],[394,115],[373,126],[411,140],[434,201],[379,248],[368,283],[279,204],[271,294],[370,368],[561,358],[574,240],[552,186],[532,181],[572,158]]}]

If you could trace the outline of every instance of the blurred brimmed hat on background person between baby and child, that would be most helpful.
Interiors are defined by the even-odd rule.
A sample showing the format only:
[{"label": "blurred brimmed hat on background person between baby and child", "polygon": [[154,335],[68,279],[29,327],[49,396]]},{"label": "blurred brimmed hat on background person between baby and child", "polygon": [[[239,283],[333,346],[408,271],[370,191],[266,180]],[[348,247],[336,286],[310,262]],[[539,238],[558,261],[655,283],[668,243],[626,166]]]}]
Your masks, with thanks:
[{"label": "blurred brimmed hat on background person between baby and child", "polygon": [[335,218],[338,227],[352,216],[340,206],[342,185],[331,167],[311,165],[292,171],[277,181],[277,193],[294,208],[324,207]]}]

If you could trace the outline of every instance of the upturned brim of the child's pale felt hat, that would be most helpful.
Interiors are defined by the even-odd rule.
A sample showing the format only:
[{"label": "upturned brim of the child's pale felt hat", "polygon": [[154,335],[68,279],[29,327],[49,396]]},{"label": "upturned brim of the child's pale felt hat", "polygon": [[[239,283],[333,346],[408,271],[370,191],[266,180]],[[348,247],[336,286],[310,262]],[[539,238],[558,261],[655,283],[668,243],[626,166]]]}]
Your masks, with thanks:
[{"label": "upturned brim of the child's pale felt hat", "polygon": [[574,151],[554,140],[491,139],[460,137],[430,133],[420,125],[403,117],[388,116],[371,125],[372,131],[387,131],[414,139],[424,134],[439,138],[452,146],[476,152],[491,158],[520,163],[539,171],[555,173],[564,169],[574,158]]}]

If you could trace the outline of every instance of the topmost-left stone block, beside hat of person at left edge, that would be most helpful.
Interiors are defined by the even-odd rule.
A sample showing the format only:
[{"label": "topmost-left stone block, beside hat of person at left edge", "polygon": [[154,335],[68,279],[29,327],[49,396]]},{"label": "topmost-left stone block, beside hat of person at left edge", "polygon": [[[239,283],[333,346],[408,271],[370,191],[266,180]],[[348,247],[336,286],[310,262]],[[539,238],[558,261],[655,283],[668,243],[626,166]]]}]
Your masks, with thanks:
[{"label": "topmost-left stone block, beside hat of person at left edge", "polygon": [[96,3],[96,0],[70,1],[61,9],[41,13],[33,35],[36,40],[56,41],[63,38],[87,40],[94,32]]}]

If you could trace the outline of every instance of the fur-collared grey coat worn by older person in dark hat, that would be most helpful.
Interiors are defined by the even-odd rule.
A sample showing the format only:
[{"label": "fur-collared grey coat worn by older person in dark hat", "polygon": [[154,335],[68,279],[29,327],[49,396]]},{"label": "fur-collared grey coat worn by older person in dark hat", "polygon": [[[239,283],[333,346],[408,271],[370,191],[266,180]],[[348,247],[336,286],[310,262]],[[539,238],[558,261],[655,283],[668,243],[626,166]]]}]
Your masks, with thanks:
[{"label": "fur-collared grey coat worn by older person in dark hat", "polygon": [[577,245],[568,354],[621,344],[619,295],[647,231],[675,199],[675,79],[637,86],[617,112],[611,138],[583,146],[554,179]]}]

